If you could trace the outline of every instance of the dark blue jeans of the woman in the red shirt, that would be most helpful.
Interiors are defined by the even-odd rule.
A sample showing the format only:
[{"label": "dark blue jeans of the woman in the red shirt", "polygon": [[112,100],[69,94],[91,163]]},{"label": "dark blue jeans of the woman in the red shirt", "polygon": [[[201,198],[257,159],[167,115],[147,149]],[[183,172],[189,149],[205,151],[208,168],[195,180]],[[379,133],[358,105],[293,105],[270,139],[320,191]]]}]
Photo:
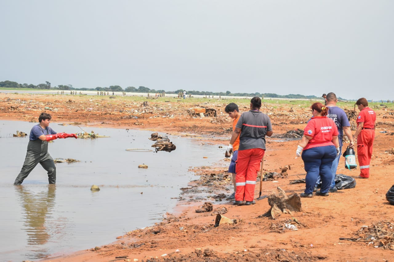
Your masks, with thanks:
[{"label": "dark blue jeans of the woman in the red shirt", "polygon": [[322,179],[321,193],[327,193],[332,180],[331,166],[336,158],[335,146],[317,146],[302,152],[304,169],[307,172],[305,177],[305,194],[312,194],[313,187],[319,177]]}]

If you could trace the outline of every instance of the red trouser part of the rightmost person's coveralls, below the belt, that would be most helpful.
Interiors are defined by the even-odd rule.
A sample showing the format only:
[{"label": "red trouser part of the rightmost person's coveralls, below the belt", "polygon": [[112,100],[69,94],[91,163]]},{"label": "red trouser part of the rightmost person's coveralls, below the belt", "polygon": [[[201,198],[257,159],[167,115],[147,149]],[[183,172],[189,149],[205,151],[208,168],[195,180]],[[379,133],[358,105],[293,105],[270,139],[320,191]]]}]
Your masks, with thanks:
[{"label": "red trouser part of the rightmost person's coveralls, below the belt", "polygon": [[361,177],[369,177],[374,138],[375,129],[362,129],[357,136],[357,158],[359,159]]}]

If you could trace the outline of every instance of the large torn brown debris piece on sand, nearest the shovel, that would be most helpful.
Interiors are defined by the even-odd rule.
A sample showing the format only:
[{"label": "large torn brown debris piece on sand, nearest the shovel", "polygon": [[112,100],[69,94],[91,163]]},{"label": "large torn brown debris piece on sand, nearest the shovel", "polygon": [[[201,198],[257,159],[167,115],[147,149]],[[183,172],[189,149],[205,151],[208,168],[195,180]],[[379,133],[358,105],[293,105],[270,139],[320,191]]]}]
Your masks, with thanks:
[{"label": "large torn brown debris piece on sand, nearest the shovel", "polygon": [[293,193],[290,196],[286,196],[286,192],[279,186],[276,191],[272,191],[268,196],[268,204],[271,208],[262,216],[271,216],[272,219],[278,218],[281,214],[292,214],[292,212],[302,211],[299,194]]}]

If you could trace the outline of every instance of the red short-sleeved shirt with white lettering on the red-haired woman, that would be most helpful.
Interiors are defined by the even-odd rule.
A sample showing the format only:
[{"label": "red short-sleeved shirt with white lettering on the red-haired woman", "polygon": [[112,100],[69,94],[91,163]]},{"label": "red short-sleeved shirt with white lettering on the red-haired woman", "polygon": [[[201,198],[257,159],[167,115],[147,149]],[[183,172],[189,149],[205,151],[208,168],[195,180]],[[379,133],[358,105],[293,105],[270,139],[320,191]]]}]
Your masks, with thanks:
[{"label": "red short-sleeved shirt with white lettering on the red-haired woman", "polygon": [[305,127],[304,135],[312,137],[304,150],[316,146],[333,146],[333,136],[338,135],[338,128],[327,116],[314,116]]}]

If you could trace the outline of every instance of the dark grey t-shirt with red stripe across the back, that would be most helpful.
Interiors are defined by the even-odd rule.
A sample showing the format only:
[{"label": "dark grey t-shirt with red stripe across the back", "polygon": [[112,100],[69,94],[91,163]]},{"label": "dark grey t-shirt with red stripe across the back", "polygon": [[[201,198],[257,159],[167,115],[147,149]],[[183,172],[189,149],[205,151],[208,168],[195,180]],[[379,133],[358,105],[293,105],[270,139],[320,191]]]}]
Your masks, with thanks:
[{"label": "dark grey t-shirt with red stripe across the back", "polygon": [[248,111],[240,116],[235,127],[241,129],[240,148],[238,150],[266,149],[267,131],[272,131],[271,120],[260,111]]}]

